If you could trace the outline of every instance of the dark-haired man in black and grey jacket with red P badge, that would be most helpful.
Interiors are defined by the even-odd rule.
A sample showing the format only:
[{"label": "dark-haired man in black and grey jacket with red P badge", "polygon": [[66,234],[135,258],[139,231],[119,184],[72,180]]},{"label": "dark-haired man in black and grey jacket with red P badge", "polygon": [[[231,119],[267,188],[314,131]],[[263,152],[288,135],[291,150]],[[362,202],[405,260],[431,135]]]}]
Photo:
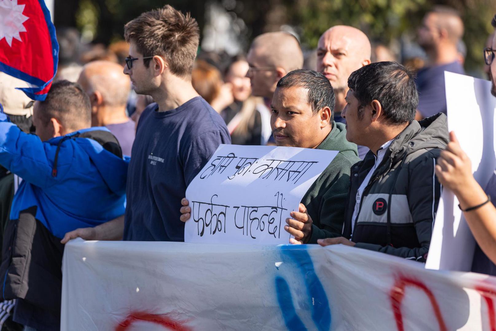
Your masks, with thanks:
[{"label": "dark-haired man in black and grey jacket with red P badge", "polygon": [[342,234],[319,243],[425,262],[441,189],[435,160],[449,142],[446,115],[414,120],[414,78],[395,62],[353,72],[348,86],[346,138],[371,151],[351,169]]}]

